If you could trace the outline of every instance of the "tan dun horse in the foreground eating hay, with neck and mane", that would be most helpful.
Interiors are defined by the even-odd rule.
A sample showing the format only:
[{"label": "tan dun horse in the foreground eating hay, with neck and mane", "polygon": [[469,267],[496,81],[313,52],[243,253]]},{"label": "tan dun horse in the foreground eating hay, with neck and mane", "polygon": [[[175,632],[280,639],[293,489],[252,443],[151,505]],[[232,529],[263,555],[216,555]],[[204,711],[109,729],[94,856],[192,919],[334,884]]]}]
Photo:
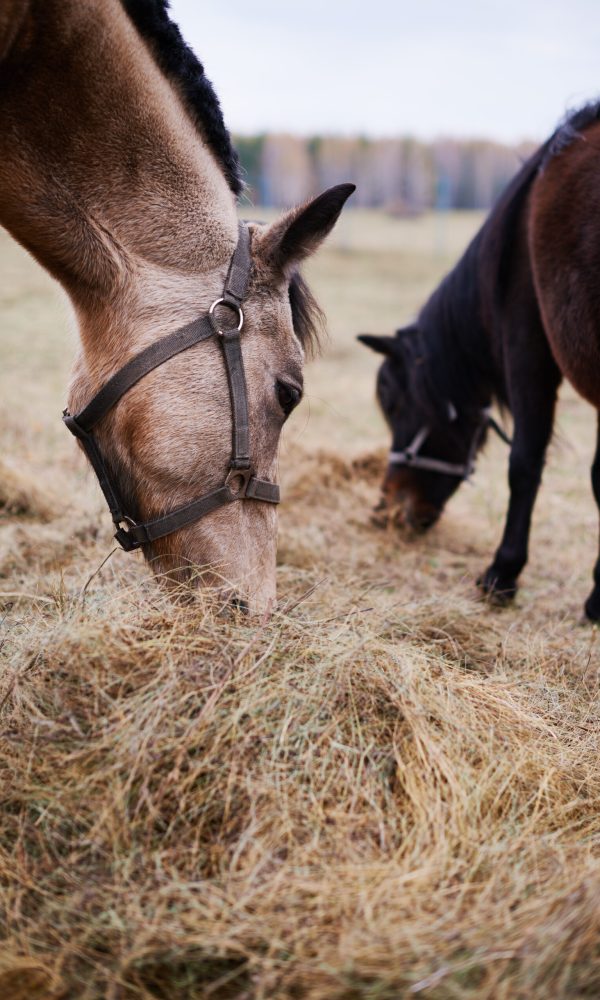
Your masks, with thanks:
[{"label": "tan dun horse in the foreground eating hay, with neck and mane", "polygon": [[353,186],[238,230],[237,157],[166,8],[2,0],[0,223],[73,303],[65,421],[121,543],[264,606],[278,441],[319,317],[297,267]]}]

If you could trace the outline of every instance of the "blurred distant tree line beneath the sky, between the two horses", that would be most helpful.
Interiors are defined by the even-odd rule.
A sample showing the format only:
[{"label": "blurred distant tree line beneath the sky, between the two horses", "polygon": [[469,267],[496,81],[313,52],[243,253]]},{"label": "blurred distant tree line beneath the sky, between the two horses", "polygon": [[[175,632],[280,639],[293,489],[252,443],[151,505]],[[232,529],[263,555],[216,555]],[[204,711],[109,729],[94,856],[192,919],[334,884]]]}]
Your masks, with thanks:
[{"label": "blurred distant tree line beneath the sky, between the two horses", "polygon": [[534,143],[292,135],[236,136],[254,204],[287,207],[352,180],[353,204],[416,214],[438,208],[489,208]]}]

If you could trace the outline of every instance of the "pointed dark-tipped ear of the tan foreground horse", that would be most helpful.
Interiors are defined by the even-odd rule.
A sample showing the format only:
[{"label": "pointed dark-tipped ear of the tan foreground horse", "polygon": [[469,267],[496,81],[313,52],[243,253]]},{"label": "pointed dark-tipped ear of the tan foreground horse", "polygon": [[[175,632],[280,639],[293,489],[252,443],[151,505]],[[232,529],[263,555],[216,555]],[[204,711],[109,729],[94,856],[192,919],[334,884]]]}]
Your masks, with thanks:
[{"label": "pointed dark-tipped ear of the tan foreground horse", "polygon": [[353,191],[355,184],[338,184],[287,212],[261,233],[261,255],[278,270],[291,271],[314,253],[331,232]]}]

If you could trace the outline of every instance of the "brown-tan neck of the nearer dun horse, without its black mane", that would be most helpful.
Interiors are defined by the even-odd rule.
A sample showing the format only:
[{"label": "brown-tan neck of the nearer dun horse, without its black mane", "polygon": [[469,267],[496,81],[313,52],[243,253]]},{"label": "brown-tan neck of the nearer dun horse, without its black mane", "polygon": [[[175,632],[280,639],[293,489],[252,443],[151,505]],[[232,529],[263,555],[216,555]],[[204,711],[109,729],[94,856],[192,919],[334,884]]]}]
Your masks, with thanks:
[{"label": "brown-tan neck of the nearer dun horse, without its black mane", "polygon": [[3,0],[0,92],[0,223],[65,286],[84,348],[103,312],[135,324],[144,289],[223,267],[234,197],[120,0]]}]

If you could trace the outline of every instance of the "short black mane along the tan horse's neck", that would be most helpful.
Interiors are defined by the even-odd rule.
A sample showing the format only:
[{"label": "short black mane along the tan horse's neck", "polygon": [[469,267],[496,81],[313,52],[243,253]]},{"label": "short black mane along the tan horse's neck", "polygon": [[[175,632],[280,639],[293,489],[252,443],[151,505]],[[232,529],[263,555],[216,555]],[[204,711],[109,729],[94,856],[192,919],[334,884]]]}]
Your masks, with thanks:
[{"label": "short black mane along the tan horse's neck", "polygon": [[235,195],[243,189],[238,154],[223,121],[213,85],[181,32],[169,17],[169,0],[121,0],[140,35],[149,43],[158,66],[175,83],[203,139],[220,163]]}]

